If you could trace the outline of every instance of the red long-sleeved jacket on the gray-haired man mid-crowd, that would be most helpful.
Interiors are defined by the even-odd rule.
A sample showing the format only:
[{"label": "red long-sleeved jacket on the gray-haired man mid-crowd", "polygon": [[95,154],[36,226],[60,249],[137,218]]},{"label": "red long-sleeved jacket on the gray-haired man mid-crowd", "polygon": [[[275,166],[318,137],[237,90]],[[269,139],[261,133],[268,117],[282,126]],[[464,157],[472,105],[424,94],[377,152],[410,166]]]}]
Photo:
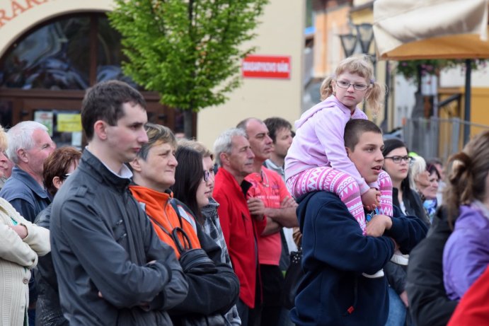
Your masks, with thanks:
[{"label": "red long-sleeved jacket on the gray-haired man mid-crowd", "polygon": [[263,232],[266,220],[257,222],[251,218],[245,197],[251,184],[243,181],[242,185],[244,190],[231,173],[224,168],[219,168],[214,185],[214,199],[219,203],[217,212],[222,233],[224,233],[234,272],[239,279],[239,298],[248,307],[254,308],[258,266],[256,235]]}]

